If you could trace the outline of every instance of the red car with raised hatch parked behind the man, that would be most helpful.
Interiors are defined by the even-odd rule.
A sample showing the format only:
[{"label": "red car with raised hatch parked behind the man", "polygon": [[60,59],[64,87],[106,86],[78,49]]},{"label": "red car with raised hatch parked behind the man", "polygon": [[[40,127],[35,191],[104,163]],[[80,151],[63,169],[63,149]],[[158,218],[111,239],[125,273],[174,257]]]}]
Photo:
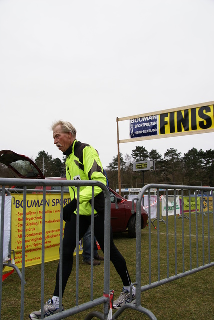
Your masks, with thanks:
[{"label": "red car with raised hatch parked behind the man", "polygon": [[[44,179],[44,175],[37,165],[28,157],[17,154],[10,150],[0,151],[0,162],[12,169],[21,178]],[[66,177],[47,178],[51,180],[66,179]],[[17,187],[15,187],[17,188]],[[36,189],[42,189],[36,186]],[[60,190],[58,186],[47,186],[46,190]],[[111,199],[111,226],[113,232],[125,232],[128,230],[130,238],[136,237],[136,204],[134,203],[132,213],[132,201],[129,201],[110,189]],[[141,206],[141,228],[147,225],[148,214]]]}]

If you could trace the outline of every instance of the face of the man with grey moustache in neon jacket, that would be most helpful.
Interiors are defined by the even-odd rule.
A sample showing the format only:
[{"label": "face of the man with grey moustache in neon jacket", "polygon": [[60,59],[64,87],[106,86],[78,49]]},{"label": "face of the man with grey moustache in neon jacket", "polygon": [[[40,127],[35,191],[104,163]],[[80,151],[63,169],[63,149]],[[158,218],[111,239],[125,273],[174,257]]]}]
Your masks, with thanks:
[{"label": "face of the man with grey moustache in neon jacket", "polygon": [[61,152],[65,152],[73,143],[74,138],[70,132],[63,133],[61,125],[57,125],[53,131],[54,144]]}]

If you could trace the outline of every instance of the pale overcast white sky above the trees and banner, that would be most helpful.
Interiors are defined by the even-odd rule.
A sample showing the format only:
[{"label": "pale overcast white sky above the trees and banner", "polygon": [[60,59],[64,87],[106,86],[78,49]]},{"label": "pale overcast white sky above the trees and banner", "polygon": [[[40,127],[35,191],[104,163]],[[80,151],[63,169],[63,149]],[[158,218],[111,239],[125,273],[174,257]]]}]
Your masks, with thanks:
[{"label": "pale overcast white sky above the trees and banner", "polygon": [[[213,101],[213,15],[213,0],[0,0],[0,150],[62,159],[49,128],[63,119],[106,168],[116,117]],[[129,121],[120,123],[129,138]],[[122,143],[120,152],[183,155],[213,149],[213,134]]]}]

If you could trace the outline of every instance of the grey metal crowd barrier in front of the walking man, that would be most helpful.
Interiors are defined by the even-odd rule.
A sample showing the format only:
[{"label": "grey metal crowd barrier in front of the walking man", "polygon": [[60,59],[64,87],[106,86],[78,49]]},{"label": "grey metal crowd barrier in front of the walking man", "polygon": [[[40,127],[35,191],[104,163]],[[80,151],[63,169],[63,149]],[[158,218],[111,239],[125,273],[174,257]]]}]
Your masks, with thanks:
[{"label": "grey metal crowd barrier in front of the walking man", "polygon": [[[90,289],[90,301],[85,302],[83,304],[79,304],[79,251],[76,250],[76,302],[75,306],[66,309],[64,311],[59,310],[59,313],[51,315],[49,318],[51,320],[59,320],[65,319],[68,316],[80,313],[82,311],[88,310],[92,307],[103,304],[103,313],[96,312],[96,317],[101,320],[105,320],[108,317],[109,312],[109,297],[110,297],[110,193],[108,188],[98,182],[98,181],[68,181],[68,180],[34,180],[34,179],[10,179],[10,178],[0,178],[0,186],[1,191],[0,195],[2,197],[2,205],[1,205],[1,237],[0,237],[0,245],[3,248],[3,234],[4,234],[4,204],[5,204],[5,196],[8,193],[6,189],[7,185],[18,185],[23,186],[23,231],[22,231],[22,243],[25,243],[25,235],[26,235],[26,199],[27,192],[35,192],[34,189],[29,190],[27,186],[43,186],[43,190],[37,190],[37,192],[43,192],[43,207],[42,210],[45,212],[45,204],[46,204],[46,193],[50,192],[46,191],[47,186],[59,186],[61,187],[61,213],[60,213],[60,282],[59,282],[59,290],[60,290],[60,305],[62,304],[62,238],[63,238],[63,195],[64,195],[64,187],[65,186],[75,186],[77,188],[77,239],[79,238],[79,192],[81,186],[91,186],[92,187],[92,215],[91,215],[91,256],[93,257],[93,230],[94,230],[94,187],[99,186],[105,196],[105,259],[104,259],[104,284],[103,290],[100,290],[103,294],[94,299],[93,298],[93,263],[91,263],[91,289]],[[15,189],[20,192],[20,189]],[[14,191],[15,191],[14,190]],[[76,247],[78,247],[79,242],[76,241]],[[41,262],[41,319],[43,319],[43,305],[44,305],[44,252],[45,252],[45,214],[42,214],[42,262]],[[10,248],[10,254],[11,248]],[[22,245],[22,256],[25,256],[25,245]],[[2,279],[3,272],[3,250],[0,250],[0,279]],[[8,265],[9,266],[9,265]],[[18,270],[19,271],[19,270]],[[19,271],[20,272],[20,271]],[[24,319],[24,285],[25,285],[25,259],[22,259],[22,267],[21,274],[19,273],[21,278],[21,306],[20,306],[20,319]],[[0,318],[1,318],[1,307],[2,307],[2,281],[0,281]],[[33,310],[30,310],[33,311]]]}]

